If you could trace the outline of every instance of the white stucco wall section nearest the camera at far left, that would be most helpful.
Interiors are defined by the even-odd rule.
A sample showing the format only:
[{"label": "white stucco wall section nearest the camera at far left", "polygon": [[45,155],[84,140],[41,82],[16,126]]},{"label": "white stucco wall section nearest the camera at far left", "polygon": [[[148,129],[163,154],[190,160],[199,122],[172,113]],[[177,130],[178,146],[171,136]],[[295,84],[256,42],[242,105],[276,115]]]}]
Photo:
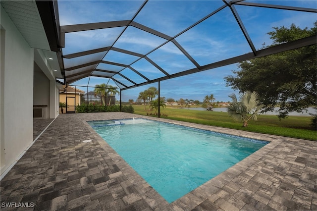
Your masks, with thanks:
[{"label": "white stucco wall section nearest the camera at far left", "polygon": [[1,160],[2,175],[33,141],[34,50],[27,44],[2,7],[0,20],[1,28],[5,30],[4,80],[1,80],[3,124],[0,133],[1,149],[4,149],[5,153],[5,160]]}]

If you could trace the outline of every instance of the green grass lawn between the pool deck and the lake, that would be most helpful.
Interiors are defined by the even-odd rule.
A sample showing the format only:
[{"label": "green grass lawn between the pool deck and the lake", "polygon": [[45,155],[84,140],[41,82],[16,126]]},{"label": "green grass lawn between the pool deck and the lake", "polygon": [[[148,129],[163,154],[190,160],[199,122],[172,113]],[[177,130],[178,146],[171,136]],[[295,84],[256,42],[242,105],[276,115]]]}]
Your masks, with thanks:
[{"label": "green grass lawn between the pool deck and the lake", "polygon": [[[148,115],[155,111],[144,110],[144,106],[134,105],[134,113]],[[184,122],[226,127],[251,132],[273,134],[279,136],[317,140],[317,131],[310,126],[310,116],[289,116],[279,120],[276,115],[260,115],[258,121],[249,121],[249,127],[243,128],[242,123],[236,123],[230,118],[227,112],[189,110],[178,107],[167,106],[161,109],[161,118],[174,119]],[[163,116],[165,114],[167,116]]]}]

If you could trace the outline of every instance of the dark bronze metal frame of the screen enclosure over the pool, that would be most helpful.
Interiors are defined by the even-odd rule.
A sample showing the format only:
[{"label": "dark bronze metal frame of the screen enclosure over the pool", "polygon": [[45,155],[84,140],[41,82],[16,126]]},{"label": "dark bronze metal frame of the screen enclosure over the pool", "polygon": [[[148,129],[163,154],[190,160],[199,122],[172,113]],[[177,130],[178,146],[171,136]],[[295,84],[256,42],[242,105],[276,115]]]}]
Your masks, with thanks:
[{"label": "dark bronze metal frame of the screen enclosure over the pool", "polygon": [[[197,73],[197,72],[201,72],[201,71],[205,71],[205,70],[210,70],[213,68],[217,68],[217,67],[221,67],[221,66],[225,66],[225,65],[229,65],[229,64],[234,64],[234,63],[238,63],[241,61],[250,60],[253,58],[262,57],[262,56],[266,56],[266,55],[270,55],[270,54],[274,54],[274,53],[280,53],[280,52],[294,50],[294,49],[305,47],[305,46],[316,45],[316,43],[317,43],[316,36],[311,36],[311,37],[306,37],[306,38],[299,39],[299,40],[296,40],[293,42],[288,42],[288,43],[276,45],[273,47],[268,47],[265,49],[256,50],[256,48],[253,44],[253,41],[250,38],[249,33],[246,30],[246,28],[245,28],[245,26],[244,26],[244,24],[239,16],[238,11],[235,8],[235,5],[266,7],[266,8],[281,9],[281,10],[293,10],[293,11],[317,13],[317,9],[315,9],[315,8],[303,8],[303,7],[294,7],[294,6],[285,6],[285,5],[265,4],[265,3],[248,2],[248,1],[242,1],[242,0],[231,0],[231,1],[222,0],[222,2],[223,2],[222,6],[215,9],[210,14],[208,14],[204,18],[200,19],[196,23],[192,24],[191,26],[189,26],[188,28],[186,28],[182,32],[176,34],[173,37],[170,37],[162,32],[156,31],[152,28],[149,28],[145,25],[142,25],[142,24],[134,21],[134,19],[137,17],[137,15],[140,13],[140,11],[144,8],[144,6],[148,2],[149,2],[148,0],[145,0],[130,20],[119,20],[119,21],[60,26],[59,32],[60,32],[60,47],[61,48],[65,47],[65,34],[66,33],[82,32],[82,31],[89,31],[89,30],[99,30],[99,29],[109,29],[109,28],[116,28],[116,27],[123,27],[124,28],[122,30],[122,32],[119,34],[119,36],[115,39],[115,41],[110,46],[106,46],[106,47],[98,48],[98,49],[92,49],[92,50],[83,51],[83,52],[70,53],[70,54],[65,54],[65,55],[62,54],[63,59],[72,59],[72,58],[77,58],[80,56],[90,55],[90,54],[94,54],[94,53],[105,52],[105,54],[103,55],[103,57],[101,59],[90,61],[88,63],[81,64],[81,65],[75,65],[75,66],[70,66],[70,67],[64,68],[63,70],[65,72],[65,75],[64,75],[65,84],[67,85],[70,83],[74,83],[75,81],[78,81],[78,80],[85,78],[85,77],[88,77],[88,76],[97,76],[97,77],[104,77],[104,78],[111,79],[114,81],[115,84],[118,85],[118,87],[120,89],[120,103],[121,103],[121,91],[124,91],[127,89],[160,82],[160,81],[171,79],[171,78],[185,76],[188,74],[193,74],[193,73]],[[226,7],[228,7],[230,9],[230,11],[232,12],[232,14],[235,18],[235,21],[238,23],[239,28],[240,28],[241,32],[243,33],[244,38],[246,39],[246,41],[251,49],[251,52],[246,53],[246,54],[241,54],[238,56],[234,56],[234,57],[229,57],[229,58],[221,60],[221,61],[216,61],[216,62],[201,66],[190,55],[190,53],[188,53],[175,39],[178,36],[187,32],[191,28],[195,27],[196,25],[200,24],[204,20],[210,18],[211,16],[213,16],[214,14],[218,13],[219,11],[221,11],[222,9],[224,9]],[[120,48],[114,47],[115,43],[122,36],[122,34],[124,34],[124,32],[126,31],[126,29],[129,26],[135,27],[139,30],[150,33],[150,34],[155,35],[159,38],[162,38],[165,40],[165,42],[163,44],[159,45],[157,48],[154,48],[150,52],[145,53],[145,54],[136,53],[136,52],[132,52],[132,51],[128,51],[125,49],[120,49]],[[180,50],[180,52],[183,53],[183,55],[185,55],[192,64],[194,64],[195,67],[192,69],[187,69],[187,70],[177,72],[174,74],[169,74],[163,68],[161,68],[157,63],[155,63],[153,60],[151,60],[148,57],[148,55],[150,53],[156,51],[157,49],[159,49],[161,46],[167,44],[168,42],[173,43]],[[116,62],[103,60],[104,58],[106,58],[107,53],[110,51],[124,53],[124,54],[128,54],[128,55],[136,56],[138,58],[130,64],[122,64],[122,63],[116,63]],[[137,69],[135,69],[131,66],[142,58],[144,58],[151,65],[153,65],[153,67],[157,68],[163,74],[163,76],[155,78],[155,79],[149,79],[149,77],[147,75],[140,73]],[[106,69],[106,70],[99,69],[99,68],[97,68],[97,66],[99,64],[113,65],[113,66],[119,67],[120,70],[113,71],[110,69],[109,70],[108,69]],[[123,74],[121,74],[121,72],[126,68],[132,70],[137,75],[142,77],[145,80],[145,82],[137,83],[137,82],[131,80],[130,78],[124,76]],[[76,72],[76,70],[77,70],[77,72]],[[74,73],[72,73],[72,72],[74,72]],[[128,81],[132,85],[126,85],[124,82],[116,80],[115,78],[113,78],[116,75],[122,77],[123,79],[125,79],[126,81]],[[123,88],[120,88],[120,87],[123,87]]]}]

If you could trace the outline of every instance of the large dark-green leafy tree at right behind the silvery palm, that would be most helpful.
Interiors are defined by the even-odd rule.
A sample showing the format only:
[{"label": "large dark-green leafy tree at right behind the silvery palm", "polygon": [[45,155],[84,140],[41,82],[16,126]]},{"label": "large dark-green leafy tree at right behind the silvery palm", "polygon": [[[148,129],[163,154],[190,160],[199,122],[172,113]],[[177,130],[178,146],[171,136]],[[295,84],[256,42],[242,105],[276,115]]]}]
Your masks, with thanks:
[{"label": "large dark-green leafy tree at right behind the silvery palm", "polygon": [[[317,22],[314,28],[301,29],[292,24],[290,28],[274,27],[268,32],[274,45],[287,43],[300,38],[316,36]],[[263,46],[267,48],[267,46]],[[279,106],[279,118],[285,118],[289,112],[302,112],[317,103],[316,81],[316,45],[287,52],[276,53],[238,64],[240,70],[224,79],[227,86],[241,93],[257,91],[264,111]]]}]

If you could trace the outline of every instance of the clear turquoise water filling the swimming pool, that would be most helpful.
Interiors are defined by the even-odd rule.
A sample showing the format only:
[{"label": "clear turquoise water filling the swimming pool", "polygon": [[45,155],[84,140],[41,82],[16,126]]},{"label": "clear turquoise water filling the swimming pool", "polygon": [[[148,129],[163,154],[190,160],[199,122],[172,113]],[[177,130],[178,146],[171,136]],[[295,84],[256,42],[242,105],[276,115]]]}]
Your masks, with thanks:
[{"label": "clear turquoise water filling the swimming pool", "polygon": [[146,119],[120,122],[94,129],[168,203],[268,143]]}]

